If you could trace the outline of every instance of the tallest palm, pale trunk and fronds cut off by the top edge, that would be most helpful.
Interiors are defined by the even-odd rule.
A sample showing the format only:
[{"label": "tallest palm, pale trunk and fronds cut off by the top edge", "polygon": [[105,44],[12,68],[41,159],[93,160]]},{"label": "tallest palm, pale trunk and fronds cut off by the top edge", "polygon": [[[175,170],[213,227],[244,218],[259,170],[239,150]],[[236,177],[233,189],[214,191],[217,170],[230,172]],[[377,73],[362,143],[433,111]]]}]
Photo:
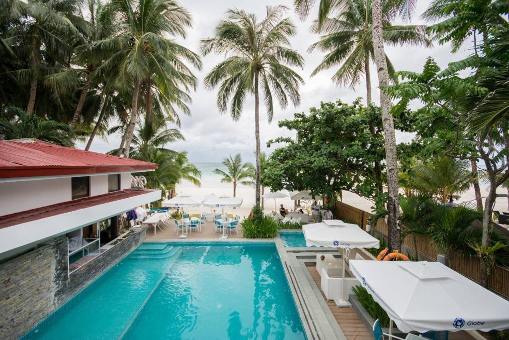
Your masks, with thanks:
[{"label": "tallest palm, pale trunk and fronds cut off by the top edge", "polygon": [[[306,17],[315,0],[294,0],[295,8],[301,17]],[[348,0],[320,0],[318,23],[322,28],[327,16],[335,10],[342,10]],[[383,3],[381,0],[373,0],[371,15],[373,20],[373,56],[378,71],[378,85],[380,88],[380,109],[384,129],[385,144],[385,165],[387,169],[387,226],[389,250],[399,246],[400,236],[398,232],[399,213],[399,181],[398,181],[398,154],[396,148],[396,137],[394,132],[394,119],[390,113],[391,103],[383,88],[389,85],[389,71],[384,51],[384,14],[391,13],[392,16],[400,14],[409,18],[415,8],[415,0],[388,0]],[[390,9],[390,10],[388,10]],[[389,19],[391,19],[390,17]],[[389,20],[390,21],[390,20]]]}]

